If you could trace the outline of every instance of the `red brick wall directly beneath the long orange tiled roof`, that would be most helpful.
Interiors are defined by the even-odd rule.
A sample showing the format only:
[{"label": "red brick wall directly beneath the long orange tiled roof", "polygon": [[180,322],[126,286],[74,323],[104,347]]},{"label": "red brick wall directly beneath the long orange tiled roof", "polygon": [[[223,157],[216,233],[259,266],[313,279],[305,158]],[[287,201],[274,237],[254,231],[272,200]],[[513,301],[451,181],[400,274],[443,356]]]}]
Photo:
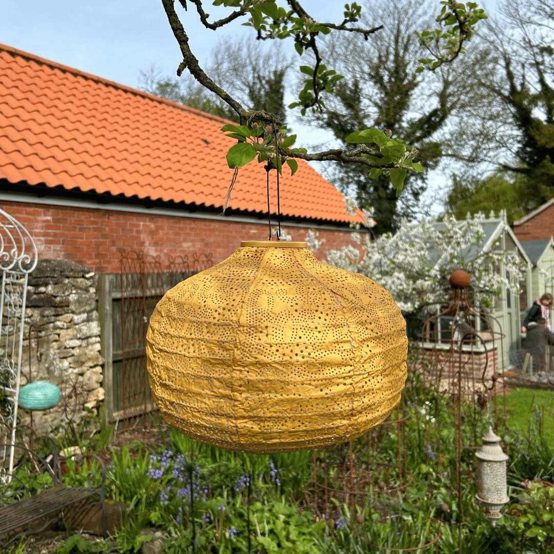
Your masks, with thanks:
[{"label": "red brick wall directly beneath the long orange tiled roof", "polygon": [[[214,263],[227,258],[241,240],[266,240],[266,223],[239,223],[214,219],[158,216],[105,209],[68,208],[4,202],[2,208],[23,224],[37,244],[40,258],[77,261],[96,273],[120,272],[120,249],[160,254],[209,253]],[[304,240],[309,229],[283,225],[293,240]],[[350,230],[319,229],[321,247],[315,255],[354,244]]]}]

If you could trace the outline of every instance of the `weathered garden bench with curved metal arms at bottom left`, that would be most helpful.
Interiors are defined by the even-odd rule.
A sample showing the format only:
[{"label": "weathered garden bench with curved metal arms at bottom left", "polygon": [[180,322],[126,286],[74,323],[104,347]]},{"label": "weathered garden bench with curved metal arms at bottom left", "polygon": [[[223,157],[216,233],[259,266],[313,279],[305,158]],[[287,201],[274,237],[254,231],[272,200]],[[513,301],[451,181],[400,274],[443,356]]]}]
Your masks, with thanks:
[{"label": "weathered garden bench with curved metal arms at bottom left", "polygon": [[[89,472],[86,475],[88,486],[70,487],[63,486],[61,481],[61,470],[58,458],[58,449],[51,439],[47,439],[53,445],[53,453],[45,460],[37,453],[25,446],[19,447],[20,452],[30,458],[30,463],[39,471],[47,472],[52,478],[54,487],[41,491],[38,494],[29,496],[27,487],[18,478],[17,470],[12,475],[2,473],[0,475],[0,495],[2,493],[13,493],[15,501],[0,507],[0,545],[7,546],[18,537],[25,534],[36,534],[48,527],[60,517],[70,524],[71,520],[78,517],[80,512],[90,506],[90,500],[94,496],[99,497],[102,510],[102,535],[106,536],[106,504],[104,494],[104,481],[106,470],[102,460],[95,454],[86,454],[83,463],[89,463],[95,459],[98,461],[101,470],[100,486],[94,486],[92,480],[96,473]],[[3,447],[4,445],[0,445]],[[20,486],[10,486],[12,481],[18,481]],[[2,491],[2,488],[4,491]]]}]

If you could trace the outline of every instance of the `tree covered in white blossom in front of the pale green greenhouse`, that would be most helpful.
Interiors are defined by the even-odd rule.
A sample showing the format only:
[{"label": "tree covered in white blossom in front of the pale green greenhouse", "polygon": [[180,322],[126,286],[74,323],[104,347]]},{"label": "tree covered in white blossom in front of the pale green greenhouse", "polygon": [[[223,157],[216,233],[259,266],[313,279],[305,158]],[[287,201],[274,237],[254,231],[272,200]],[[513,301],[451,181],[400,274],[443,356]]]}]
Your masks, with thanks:
[{"label": "tree covered in white blossom in front of the pale green greenhouse", "polygon": [[[520,293],[519,281],[525,278],[527,263],[518,253],[501,250],[499,240],[487,245],[483,220],[479,213],[461,222],[448,216],[440,223],[404,223],[395,235],[375,240],[355,232],[359,249],[331,250],[327,258],[332,265],[383,285],[405,313],[449,299],[448,279],[456,269],[469,273],[471,289],[480,295],[481,306],[490,307],[502,289]],[[506,223],[500,225],[507,230]],[[502,273],[501,268],[505,270]]]}]

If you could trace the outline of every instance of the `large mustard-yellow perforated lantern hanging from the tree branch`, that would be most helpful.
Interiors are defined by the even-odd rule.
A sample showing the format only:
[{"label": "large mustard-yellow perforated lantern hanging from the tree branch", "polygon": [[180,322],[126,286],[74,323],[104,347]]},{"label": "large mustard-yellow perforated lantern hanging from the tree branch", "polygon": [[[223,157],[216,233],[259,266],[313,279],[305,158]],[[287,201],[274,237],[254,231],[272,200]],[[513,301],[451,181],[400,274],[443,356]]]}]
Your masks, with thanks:
[{"label": "large mustard-yellow perforated lantern hanging from the tree branch", "polygon": [[243,242],[158,302],[150,387],[172,427],[220,448],[286,452],[346,442],[398,404],[406,322],[367,277],[306,243]]}]

